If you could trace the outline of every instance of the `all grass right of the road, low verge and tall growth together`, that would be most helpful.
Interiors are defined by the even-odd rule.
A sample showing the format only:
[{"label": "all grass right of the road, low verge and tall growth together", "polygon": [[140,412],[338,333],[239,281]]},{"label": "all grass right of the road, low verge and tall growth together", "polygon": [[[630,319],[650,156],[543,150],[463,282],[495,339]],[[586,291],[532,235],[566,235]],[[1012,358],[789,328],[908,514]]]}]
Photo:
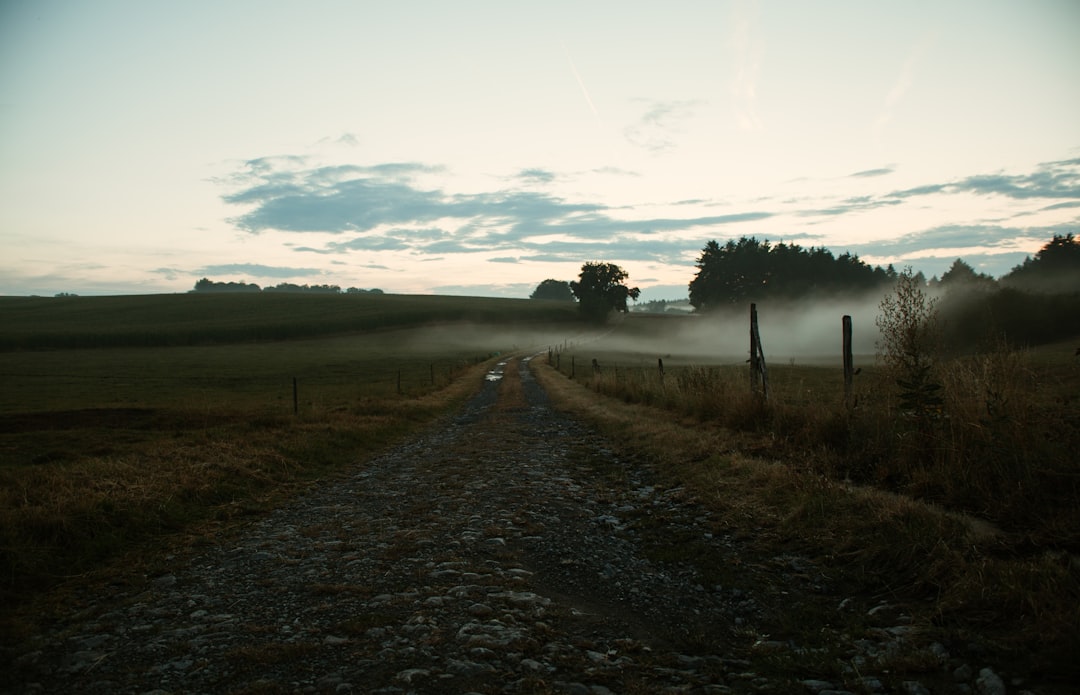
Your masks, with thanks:
[{"label": "all grass right of the road, low verge and tall growth together", "polygon": [[[725,532],[752,533],[758,551],[797,548],[821,559],[843,596],[903,604],[913,639],[977,643],[1064,683],[1078,676],[1080,496],[1068,455],[1077,366],[1057,348],[950,365],[946,413],[921,441],[876,370],[856,377],[852,404],[839,368],[771,367],[769,401],[751,393],[744,366],[669,368],[661,379],[598,350],[575,360],[597,358],[598,374],[579,367],[563,378],[564,353],[562,377],[540,367],[538,379],[561,407],[685,487]],[[997,433],[983,422],[987,399],[1012,419]],[[977,426],[964,424],[972,418]],[[1059,430],[1066,421],[1071,431]],[[820,625],[793,629],[813,644]]]}]

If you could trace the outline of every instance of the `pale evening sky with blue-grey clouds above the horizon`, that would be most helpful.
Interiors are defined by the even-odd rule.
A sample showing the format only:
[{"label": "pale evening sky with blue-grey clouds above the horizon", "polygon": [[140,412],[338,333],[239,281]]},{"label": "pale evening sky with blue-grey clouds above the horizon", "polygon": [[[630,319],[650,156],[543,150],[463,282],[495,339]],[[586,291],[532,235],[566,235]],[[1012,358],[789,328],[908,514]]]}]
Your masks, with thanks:
[{"label": "pale evening sky with blue-grey clouds above the horizon", "polygon": [[0,295],[678,299],[740,236],[1080,232],[1077,0],[0,0]]}]

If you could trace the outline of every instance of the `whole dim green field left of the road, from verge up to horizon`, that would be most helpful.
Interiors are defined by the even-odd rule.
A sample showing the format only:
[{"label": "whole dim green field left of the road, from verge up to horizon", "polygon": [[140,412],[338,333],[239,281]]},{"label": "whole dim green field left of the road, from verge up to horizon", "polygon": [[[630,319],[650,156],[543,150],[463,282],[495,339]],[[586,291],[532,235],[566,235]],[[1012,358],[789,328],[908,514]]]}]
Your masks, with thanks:
[{"label": "whole dim green field left of the road, from verge up to horizon", "polygon": [[580,330],[531,300],[0,298],[0,599],[264,509]]}]

